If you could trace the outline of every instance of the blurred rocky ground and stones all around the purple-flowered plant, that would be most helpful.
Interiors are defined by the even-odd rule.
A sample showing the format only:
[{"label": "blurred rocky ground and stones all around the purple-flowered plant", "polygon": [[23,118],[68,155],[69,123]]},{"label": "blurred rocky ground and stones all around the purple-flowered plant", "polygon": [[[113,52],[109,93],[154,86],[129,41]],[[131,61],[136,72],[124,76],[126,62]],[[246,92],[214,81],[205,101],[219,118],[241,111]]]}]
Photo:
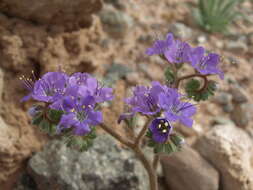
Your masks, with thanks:
[{"label": "blurred rocky ground and stones all around the purple-flowered plant", "polygon": [[[162,158],[161,190],[252,190],[253,3],[238,7],[247,19],[237,19],[228,36],[202,31],[194,6],[194,0],[0,0],[0,189],[146,190],[143,168],[110,137],[78,153],[31,126],[32,102],[20,103],[26,92],[19,77],[59,66],[94,74],[115,88],[114,103],[104,108],[115,127],[131,87],[163,81],[166,64],[144,51],[170,31],[220,53],[225,80],[198,105],[194,127],[178,128],[187,143]],[[115,130],[124,135],[123,127]]]}]

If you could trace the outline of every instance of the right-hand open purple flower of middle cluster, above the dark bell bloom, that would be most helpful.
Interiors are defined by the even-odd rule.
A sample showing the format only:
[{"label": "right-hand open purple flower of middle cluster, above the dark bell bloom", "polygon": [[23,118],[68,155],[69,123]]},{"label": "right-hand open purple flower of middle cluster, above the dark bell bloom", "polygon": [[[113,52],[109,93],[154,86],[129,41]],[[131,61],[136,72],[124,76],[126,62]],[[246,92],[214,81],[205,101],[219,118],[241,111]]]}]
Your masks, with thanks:
[{"label": "right-hand open purple flower of middle cluster, above the dark bell bloom", "polygon": [[168,121],[180,121],[187,127],[192,126],[193,120],[190,117],[196,113],[196,107],[189,102],[180,101],[176,91],[171,94],[161,93],[159,105],[163,108],[164,116]]}]

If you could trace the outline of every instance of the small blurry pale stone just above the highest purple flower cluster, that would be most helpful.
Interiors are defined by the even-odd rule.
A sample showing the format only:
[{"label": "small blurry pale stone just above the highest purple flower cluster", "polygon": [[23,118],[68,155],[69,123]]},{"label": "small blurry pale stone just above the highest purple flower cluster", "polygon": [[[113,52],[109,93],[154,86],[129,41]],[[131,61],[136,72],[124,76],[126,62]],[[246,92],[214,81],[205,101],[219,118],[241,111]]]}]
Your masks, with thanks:
[{"label": "small blurry pale stone just above the highest purple flower cluster", "polygon": [[170,25],[169,32],[172,32],[176,37],[180,39],[192,38],[192,29],[183,23],[173,23]]}]

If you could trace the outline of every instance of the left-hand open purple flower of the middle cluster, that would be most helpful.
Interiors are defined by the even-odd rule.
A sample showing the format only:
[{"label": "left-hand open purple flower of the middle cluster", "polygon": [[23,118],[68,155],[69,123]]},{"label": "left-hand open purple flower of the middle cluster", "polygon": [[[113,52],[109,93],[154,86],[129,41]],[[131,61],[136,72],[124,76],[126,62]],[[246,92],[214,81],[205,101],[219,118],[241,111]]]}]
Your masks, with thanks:
[{"label": "left-hand open purple flower of the middle cluster", "polygon": [[131,106],[131,112],[154,115],[161,109],[158,106],[158,95],[164,91],[164,86],[159,82],[152,82],[152,87],[137,86],[133,96],[127,98],[125,102]]}]

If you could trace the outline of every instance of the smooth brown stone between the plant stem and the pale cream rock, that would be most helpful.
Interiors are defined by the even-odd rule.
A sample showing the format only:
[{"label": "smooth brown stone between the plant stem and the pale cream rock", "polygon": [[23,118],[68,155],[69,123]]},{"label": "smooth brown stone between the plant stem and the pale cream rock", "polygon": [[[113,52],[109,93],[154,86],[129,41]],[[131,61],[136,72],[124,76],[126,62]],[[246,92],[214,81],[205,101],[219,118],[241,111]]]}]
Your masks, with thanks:
[{"label": "smooth brown stone between the plant stem and the pale cream rock", "polygon": [[167,185],[173,190],[218,190],[219,174],[198,152],[182,151],[161,159]]}]

